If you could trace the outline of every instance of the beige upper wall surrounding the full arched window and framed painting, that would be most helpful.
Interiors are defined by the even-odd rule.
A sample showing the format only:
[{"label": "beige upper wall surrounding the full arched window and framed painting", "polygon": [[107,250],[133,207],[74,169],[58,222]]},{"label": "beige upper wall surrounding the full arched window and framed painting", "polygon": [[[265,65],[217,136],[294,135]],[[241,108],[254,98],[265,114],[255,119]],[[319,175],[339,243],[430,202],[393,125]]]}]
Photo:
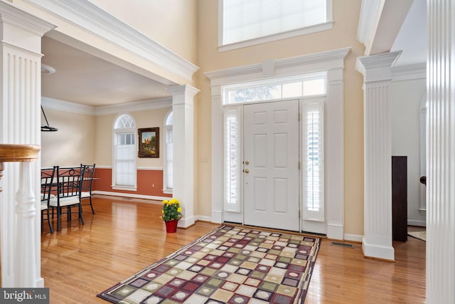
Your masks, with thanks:
[{"label": "beige upper wall surrounding the full arched window and framed painting", "polygon": [[[144,110],[129,112],[136,121],[137,128],[159,127],[159,158],[137,158],[137,167],[163,167],[164,147],[164,117],[171,108],[160,108],[156,110]],[[95,160],[100,166],[112,166],[112,127],[118,114],[100,115],[96,117],[95,136]],[[136,137],[138,139],[138,137]]]}]

